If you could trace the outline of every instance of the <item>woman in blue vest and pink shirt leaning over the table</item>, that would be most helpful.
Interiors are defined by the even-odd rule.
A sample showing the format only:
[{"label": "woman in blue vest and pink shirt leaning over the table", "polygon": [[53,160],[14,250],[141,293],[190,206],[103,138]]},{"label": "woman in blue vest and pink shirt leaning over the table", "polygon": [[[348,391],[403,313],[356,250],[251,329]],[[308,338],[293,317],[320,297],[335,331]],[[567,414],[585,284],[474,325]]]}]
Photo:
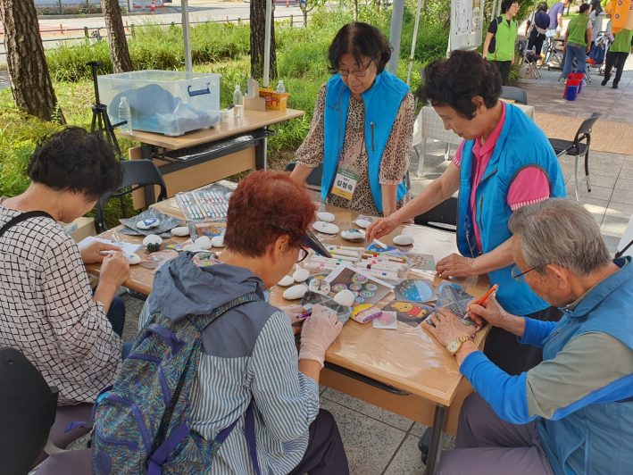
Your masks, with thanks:
[{"label": "woman in blue vest and pink shirt leaning over the table", "polygon": [[[529,287],[512,279],[514,263],[508,220],[525,204],[566,196],[565,182],[546,135],[521,109],[499,100],[501,76],[479,54],[454,51],[445,61],[424,70],[418,90],[463,142],[446,171],[388,218],[374,221],[368,239],[381,237],[398,225],[459,191],[458,248],[437,262],[437,272],[468,277],[484,273],[498,283],[499,301],[517,315],[557,320],[552,308]],[[516,343],[504,329],[493,329],[486,352],[504,371],[520,374],[541,360],[540,351]]]}]

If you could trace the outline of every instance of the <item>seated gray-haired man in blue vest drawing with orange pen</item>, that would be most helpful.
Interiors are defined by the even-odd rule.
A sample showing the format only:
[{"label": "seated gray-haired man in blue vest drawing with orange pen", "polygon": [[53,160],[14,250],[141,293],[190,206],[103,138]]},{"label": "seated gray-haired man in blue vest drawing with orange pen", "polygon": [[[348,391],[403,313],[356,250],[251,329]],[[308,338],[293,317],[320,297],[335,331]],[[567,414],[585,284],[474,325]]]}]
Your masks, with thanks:
[{"label": "seated gray-haired man in blue vest drawing with orange pen", "polygon": [[[477,393],[462,406],[455,450],[438,474],[602,475],[633,472],[633,264],[611,260],[582,205],[551,199],[512,215],[513,272],[561,307],[558,323],[515,316],[492,299],[471,314],[504,328],[544,362],[501,371],[444,309],[422,324],[450,347]],[[460,343],[461,342],[461,343]]]}]

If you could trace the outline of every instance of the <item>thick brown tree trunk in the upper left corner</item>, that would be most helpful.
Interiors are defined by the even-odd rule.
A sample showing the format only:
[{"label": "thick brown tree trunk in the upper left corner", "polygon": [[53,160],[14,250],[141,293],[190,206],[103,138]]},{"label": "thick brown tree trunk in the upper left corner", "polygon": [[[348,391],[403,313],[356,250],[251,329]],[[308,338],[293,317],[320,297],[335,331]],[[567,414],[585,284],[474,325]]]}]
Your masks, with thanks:
[{"label": "thick brown tree trunk in the upper left corner", "polygon": [[0,0],[0,20],[15,104],[42,121],[55,118],[66,123],[62,111],[56,109],[33,0]]}]

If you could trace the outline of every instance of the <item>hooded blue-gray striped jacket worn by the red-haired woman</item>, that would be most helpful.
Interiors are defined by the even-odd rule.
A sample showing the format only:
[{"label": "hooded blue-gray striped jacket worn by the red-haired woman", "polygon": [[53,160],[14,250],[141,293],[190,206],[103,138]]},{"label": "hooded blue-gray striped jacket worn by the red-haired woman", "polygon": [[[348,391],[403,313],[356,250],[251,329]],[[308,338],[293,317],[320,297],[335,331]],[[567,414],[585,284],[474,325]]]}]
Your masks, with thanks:
[{"label": "hooded blue-gray striped jacket worn by the red-haired woman", "polygon": [[[261,472],[281,475],[292,471],[304,456],[308,427],[319,412],[319,385],[298,370],[290,321],[264,301],[262,280],[224,263],[196,267],[190,259],[174,259],[156,273],[139,328],[154,312],[179,320],[210,312],[248,292],[262,301],[230,310],[204,330],[190,427],[212,440],[254,399]],[[206,473],[254,474],[243,417]]]}]

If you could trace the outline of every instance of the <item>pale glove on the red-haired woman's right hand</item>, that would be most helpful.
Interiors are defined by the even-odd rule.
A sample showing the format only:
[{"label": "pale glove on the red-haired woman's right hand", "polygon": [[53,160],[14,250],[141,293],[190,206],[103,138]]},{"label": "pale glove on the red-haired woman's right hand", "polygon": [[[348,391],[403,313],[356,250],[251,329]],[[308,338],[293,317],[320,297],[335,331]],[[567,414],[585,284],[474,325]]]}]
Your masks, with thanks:
[{"label": "pale glove on the red-haired woman's right hand", "polygon": [[322,368],[325,350],[334,343],[342,328],[343,323],[338,321],[336,313],[323,310],[321,305],[314,305],[312,315],[304,321],[299,359],[320,362]]}]

